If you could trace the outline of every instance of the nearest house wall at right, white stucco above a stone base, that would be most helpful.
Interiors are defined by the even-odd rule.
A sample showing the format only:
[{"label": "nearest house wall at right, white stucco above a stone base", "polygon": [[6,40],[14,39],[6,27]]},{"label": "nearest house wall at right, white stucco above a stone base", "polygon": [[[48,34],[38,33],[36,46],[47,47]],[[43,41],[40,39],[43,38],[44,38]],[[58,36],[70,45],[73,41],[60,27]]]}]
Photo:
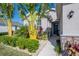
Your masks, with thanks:
[{"label": "nearest house wall at right, white stucco above a stone base", "polygon": [[[70,11],[74,11],[69,19]],[[79,43],[79,4],[58,4],[57,18],[60,20],[60,40],[64,50],[67,41]]]}]

